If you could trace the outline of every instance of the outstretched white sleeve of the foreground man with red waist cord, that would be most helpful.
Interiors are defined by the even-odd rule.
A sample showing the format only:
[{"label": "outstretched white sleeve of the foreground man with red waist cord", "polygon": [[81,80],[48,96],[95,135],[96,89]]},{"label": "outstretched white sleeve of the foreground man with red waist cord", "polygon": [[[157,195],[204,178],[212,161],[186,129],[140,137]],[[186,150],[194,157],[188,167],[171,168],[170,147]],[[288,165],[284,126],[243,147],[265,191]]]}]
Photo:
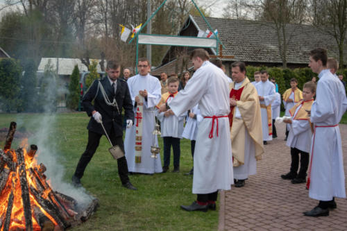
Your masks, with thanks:
[{"label": "outstretched white sleeve of the foreground man with red waist cord", "polygon": [[183,114],[189,108],[193,108],[208,90],[210,76],[204,75],[199,70],[196,70],[194,76],[189,79],[187,85],[185,85],[185,89],[180,90],[175,98],[168,103],[174,114]]}]

